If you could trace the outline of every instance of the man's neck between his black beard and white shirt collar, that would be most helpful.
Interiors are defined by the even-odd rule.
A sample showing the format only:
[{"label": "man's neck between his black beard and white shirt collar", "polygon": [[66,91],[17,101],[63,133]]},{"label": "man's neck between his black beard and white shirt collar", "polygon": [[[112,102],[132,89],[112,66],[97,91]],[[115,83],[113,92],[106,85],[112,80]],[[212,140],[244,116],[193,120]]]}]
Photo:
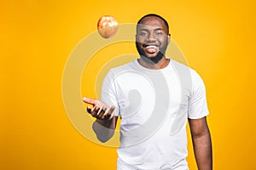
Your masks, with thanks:
[{"label": "man's neck between his black beard and white shirt collar", "polygon": [[166,56],[164,56],[162,59],[160,59],[158,61],[158,63],[155,64],[148,64],[146,61],[144,61],[143,59],[137,59],[138,63],[140,65],[143,65],[143,67],[147,68],[147,69],[151,69],[151,70],[158,70],[158,69],[163,69],[165,68],[169,62],[170,59],[166,59]]}]

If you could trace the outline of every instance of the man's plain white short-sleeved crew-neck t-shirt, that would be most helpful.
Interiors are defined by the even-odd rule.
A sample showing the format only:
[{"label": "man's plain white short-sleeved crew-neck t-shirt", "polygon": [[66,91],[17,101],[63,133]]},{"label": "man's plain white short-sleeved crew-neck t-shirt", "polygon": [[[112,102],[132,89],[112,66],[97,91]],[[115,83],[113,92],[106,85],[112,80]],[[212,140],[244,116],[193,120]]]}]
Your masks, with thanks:
[{"label": "man's plain white short-sleeved crew-neck t-shirt", "polygon": [[118,169],[189,169],[188,117],[208,115],[201,77],[170,59],[163,69],[137,62],[113,68],[102,84],[102,101],[121,117]]}]

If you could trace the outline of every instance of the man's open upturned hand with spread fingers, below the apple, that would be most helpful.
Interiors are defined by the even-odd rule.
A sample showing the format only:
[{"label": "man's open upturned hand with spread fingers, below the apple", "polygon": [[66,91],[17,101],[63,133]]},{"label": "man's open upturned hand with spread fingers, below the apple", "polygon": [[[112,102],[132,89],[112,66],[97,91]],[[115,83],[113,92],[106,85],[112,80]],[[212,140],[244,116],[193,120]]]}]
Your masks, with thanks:
[{"label": "man's open upturned hand with spread fingers, below the apple", "polygon": [[115,108],[113,105],[109,107],[107,104],[98,99],[84,98],[83,101],[84,103],[92,105],[92,108],[87,106],[87,112],[90,113],[91,116],[94,116],[99,120],[109,121],[113,119],[113,110]]}]

